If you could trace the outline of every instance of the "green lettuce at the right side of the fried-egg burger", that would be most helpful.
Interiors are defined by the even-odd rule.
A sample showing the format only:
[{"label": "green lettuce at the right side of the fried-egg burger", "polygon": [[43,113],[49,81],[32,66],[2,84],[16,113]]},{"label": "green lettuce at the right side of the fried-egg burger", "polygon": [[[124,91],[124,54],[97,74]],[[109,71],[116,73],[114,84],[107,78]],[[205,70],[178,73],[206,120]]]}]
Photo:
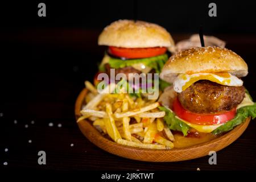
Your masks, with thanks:
[{"label": "green lettuce at the right side of the fried-egg burger", "polygon": [[213,130],[212,133],[214,135],[217,135],[232,130],[235,126],[240,125],[242,122],[245,122],[245,119],[247,117],[252,117],[253,119],[256,117],[256,103],[254,105],[245,106],[238,109],[236,117],[234,119]]}]

